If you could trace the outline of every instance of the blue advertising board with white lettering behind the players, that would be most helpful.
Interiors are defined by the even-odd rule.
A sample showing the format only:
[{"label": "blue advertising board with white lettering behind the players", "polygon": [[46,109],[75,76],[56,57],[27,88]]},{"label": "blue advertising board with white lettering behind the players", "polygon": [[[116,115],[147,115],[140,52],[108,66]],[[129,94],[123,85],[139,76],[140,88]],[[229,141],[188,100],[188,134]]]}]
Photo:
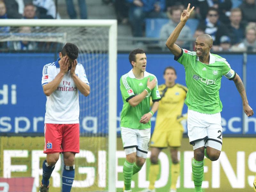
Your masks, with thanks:
[{"label": "blue advertising board with white lettering behind the players", "polygon": [[[221,55],[226,58],[237,74],[243,78],[243,55]],[[105,57],[107,60],[107,57]],[[2,133],[43,133],[44,131],[44,113],[46,96],[41,86],[42,69],[46,63],[56,60],[56,55],[52,53],[1,53],[1,75],[0,75],[0,132]],[[255,55],[248,55],[247,60],[247,78],[246,90],[251,107],[256,110],[256,85],[254,83],[255,72],[253,61],[256,60]],[[177,71],[177,83],[185,85],[185,70],[178,62],[173,60],[172,54],[147,54],[147,71],[153,73],[158,84],[163,84],[163,71],[167,66],[172,66]],[[95,66],[100,68],[100,66]],[[105,66],[106,67],[106,66]],[[132,66],[128,60],[128,54],[118,54],[117,57],[117,130],[119,130],[120,112],[122,110],[123,101],[119,89],[120,77],[131,70]],[[95,74],[90,74],[87,70],[88,79],[91,82],[91,94],[83,99],[82,105],[87,103],[95,103],[95,110],[87,112],[87,108],[80,113],[80,132],[83,133],[106,133],[108,120],[107,105],[99,104],[97,84],[102,79]],[[89,71],[89,72],[88,72]],[[108,72],[107,68],[104,69]],[[103,85],[99,90],[108,86],[107,79],[103,81]],[[94,88],[95,87],[95,88]],[[107,88],[106,88],[107,90]],[[101,92],[104,92],[101,91]],[[91,97],[90,97],[91,96]],[[103,102],[108,101],[108,95],[103,98]],[[85,101],[87,100],[87,102]],[[222,127],[223,134],[241,134],[243,133],[243,106],[241,97],[236,90],[233,81],[229,81],[225,77],[222,78],[220,88],[220,100],[223,104]],[[81,100],[80,100],[81,101]],[[99,106],[98,106],[98,104]],[[80,103],[81,106],[81,103]],[[100,110],[96,110],[98,107]],[[89,110],[89,109],[88,109]],[[184,105],[183,113],[186,113],[187,106]],[[155,117],[155,116],[154,116]],[[155,126],[155,118],[152,118],[152,131]],[[244,119],[245,133],[256,133],[256,117]]]}]

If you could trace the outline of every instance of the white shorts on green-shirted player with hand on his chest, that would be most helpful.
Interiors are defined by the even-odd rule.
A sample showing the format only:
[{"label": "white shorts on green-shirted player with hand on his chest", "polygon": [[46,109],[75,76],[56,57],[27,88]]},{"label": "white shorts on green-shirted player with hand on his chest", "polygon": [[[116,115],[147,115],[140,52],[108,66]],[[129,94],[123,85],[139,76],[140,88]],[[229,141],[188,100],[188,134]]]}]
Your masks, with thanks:
[{"label": "white shorts on green-shirted player with hand on his chest", "polygon": [[136,152],[137,156],[147,158],[150,129],[121,127],[121,137],[126,155]]}]

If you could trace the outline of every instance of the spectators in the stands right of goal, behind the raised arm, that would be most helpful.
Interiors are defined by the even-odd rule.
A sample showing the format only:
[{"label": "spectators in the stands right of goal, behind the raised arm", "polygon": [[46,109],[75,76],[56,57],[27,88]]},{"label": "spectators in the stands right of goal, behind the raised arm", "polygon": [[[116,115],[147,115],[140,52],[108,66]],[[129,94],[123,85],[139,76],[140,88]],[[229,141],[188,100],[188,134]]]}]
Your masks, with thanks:
[{"label": "spectators in the stands right of goal, behind the raised arm", "polygon": [[[142,30],[145,29],[146,18],[169,18],[169,23],[162,26],[159,34],[166,41],[180,22],[180,13],[191,3],[195,6],[195,12],[190,19],[197,21],[194,22],[197,28],[195,31],[183,28],[180,39],[196,38],[198,32],[202,31],[213,37],[213,51],[256,51],[255,0],[110,1],[115,4],[119,23],[128,21],[135,37],[146,36],[145,30]],[[188,48],[188,42],[180,39],[177,44]]]}]

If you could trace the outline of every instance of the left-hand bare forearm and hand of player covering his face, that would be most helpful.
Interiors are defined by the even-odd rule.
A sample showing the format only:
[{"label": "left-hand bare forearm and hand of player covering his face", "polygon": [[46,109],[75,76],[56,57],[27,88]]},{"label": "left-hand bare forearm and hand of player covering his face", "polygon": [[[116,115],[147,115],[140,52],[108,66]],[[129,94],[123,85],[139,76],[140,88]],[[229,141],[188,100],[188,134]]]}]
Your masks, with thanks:
[{"label": "left-hand bare forearm and hand of player covering his face", "polygon": [[48,84],[43,86],[44,94],[50,96],[59,86],[63,76],[68,72],[68,57],[65,56],[60,60],[60,72],[58,75]]}]

